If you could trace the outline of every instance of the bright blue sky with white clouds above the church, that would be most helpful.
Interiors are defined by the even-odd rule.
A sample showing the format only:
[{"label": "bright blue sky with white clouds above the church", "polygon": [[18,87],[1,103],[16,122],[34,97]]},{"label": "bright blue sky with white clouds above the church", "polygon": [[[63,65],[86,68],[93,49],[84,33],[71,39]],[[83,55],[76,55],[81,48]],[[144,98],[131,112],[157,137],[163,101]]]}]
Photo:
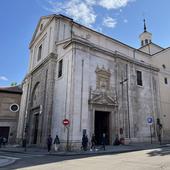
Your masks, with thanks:
[{"label": "bright blue sky with white clouds above the church", "polygon": [[0,86],[22,82],[29,49],[41,16],[61,13],[76,22],[138,48],[143,18],[153,42],[170,46],[169,0],[2,0],[0,4]]}]

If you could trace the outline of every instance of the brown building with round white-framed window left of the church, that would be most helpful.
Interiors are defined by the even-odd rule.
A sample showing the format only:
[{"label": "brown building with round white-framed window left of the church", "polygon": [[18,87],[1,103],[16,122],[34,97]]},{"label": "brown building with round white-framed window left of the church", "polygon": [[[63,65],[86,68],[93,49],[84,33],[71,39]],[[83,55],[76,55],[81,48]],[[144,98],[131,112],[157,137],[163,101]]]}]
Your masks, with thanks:
[{"label": "brown building with round white-framed window left of the church", "polygon": [[9,144],[16,143],[21,95],[20,86],[0,87],[0,136]]}]

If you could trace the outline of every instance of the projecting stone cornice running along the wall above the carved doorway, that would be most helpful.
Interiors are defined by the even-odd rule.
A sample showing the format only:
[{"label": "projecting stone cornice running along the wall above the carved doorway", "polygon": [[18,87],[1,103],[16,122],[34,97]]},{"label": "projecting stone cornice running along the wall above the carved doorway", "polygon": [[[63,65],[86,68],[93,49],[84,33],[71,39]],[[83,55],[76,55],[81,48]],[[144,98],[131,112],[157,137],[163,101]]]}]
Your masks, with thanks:
[{"label": "projecting stone cornice running along the wall above the carved doorway", "polygon": [[[111,51],[111,50],[108,50],[108,49],[105,49],[105,48],[102,48],[102,47],[99,47],[95,44],[92,44],[88,41],[83,41],[81,39],[77,39],[77,38],[72,38],[63,48],[67,48],[68,46],[70,46],[72,43],[76,43],[76,44],[79,44],[79,45],[83,45],[83,46],[86,46],[92,50],[95,50],[95,51],[98,51],[100,53],[103,53],[105,55],[109,55],[111,57],[114,57],[114,58],[120,58],[122,60],[125,60],[129,63],[133,63],[133,64],[136,64],[136,65],[139,65],[139,66],[142,66],[142,67],[145,67],[147,69],[151,69],[153,71],[159,71],[159,68],[151,65],[151,64],[148,64],[148,63],[144,63],[144,62],[140,62],[138,61],[137,59],[134,59],[134,58],[131,58],[125,54],[122,54],[118,51]],[[74,48],[77,48],[77,47],[74,47]]]}]

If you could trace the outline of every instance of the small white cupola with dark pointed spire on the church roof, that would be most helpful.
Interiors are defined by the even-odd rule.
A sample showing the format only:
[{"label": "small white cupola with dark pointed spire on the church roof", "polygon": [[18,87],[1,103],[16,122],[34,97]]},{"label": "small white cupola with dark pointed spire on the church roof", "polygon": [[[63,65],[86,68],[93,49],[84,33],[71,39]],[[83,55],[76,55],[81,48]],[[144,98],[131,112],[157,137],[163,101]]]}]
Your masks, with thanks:
[{"label": "small white cupola with dark pointed spire on the church roof", "polygon": [[147,32],[147,30],[146,30],[145,19],[143,20],[143,22],[144,22],[144,32],[141,33],[139,36],[140,42],[141,42],[141,47],[152,42],[152,34],[150,32]]}]

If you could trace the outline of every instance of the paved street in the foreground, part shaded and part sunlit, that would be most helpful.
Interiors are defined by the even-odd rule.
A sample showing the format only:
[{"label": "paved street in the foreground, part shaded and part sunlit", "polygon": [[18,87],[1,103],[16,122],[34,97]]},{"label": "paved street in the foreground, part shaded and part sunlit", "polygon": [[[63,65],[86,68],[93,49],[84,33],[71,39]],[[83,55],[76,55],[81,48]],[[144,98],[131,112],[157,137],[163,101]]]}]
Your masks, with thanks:
[{"label": "paved street in the foreground, part shaded and part sunlit", "polygon": [[170,170],[170,147],[107,155],[0,154],[17,159],[0,170]]}]

